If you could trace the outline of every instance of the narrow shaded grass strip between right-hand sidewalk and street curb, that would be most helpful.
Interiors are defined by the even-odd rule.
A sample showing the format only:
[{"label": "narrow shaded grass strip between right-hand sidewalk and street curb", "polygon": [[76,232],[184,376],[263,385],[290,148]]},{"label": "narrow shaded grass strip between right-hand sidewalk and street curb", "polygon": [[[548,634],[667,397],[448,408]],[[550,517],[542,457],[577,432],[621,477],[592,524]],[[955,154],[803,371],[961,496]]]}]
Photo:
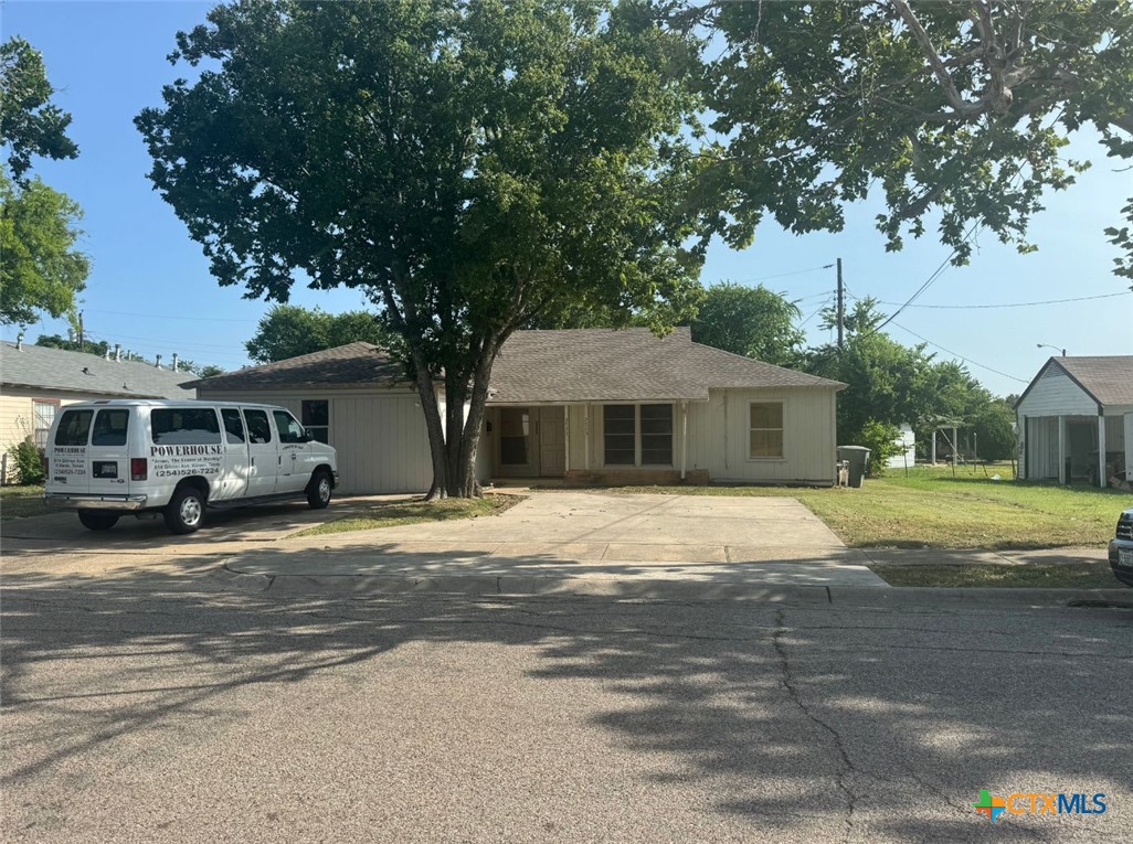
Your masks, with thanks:
[{"label": "narrow shaded grass strip between right-hand sidewalk and street curb", "polygon": [[1024,566],[870,566],[891,586],[1119,589],[1108,562]]}]

